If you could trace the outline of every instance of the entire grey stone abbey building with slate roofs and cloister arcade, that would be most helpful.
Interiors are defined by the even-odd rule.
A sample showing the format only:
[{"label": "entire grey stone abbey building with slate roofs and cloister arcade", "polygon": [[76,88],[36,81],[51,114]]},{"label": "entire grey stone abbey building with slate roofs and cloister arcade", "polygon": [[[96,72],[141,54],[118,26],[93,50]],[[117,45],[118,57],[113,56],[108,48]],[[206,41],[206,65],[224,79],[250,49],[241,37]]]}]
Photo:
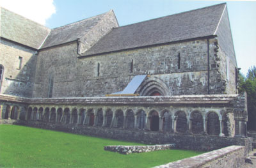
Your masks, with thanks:
[{"label": "entire grey stone abbey building with slate roofs and cloister arcade", "polygon": [[247,145],[227,4],[49,29],[1,8],[2,123],[180,148]]}]

